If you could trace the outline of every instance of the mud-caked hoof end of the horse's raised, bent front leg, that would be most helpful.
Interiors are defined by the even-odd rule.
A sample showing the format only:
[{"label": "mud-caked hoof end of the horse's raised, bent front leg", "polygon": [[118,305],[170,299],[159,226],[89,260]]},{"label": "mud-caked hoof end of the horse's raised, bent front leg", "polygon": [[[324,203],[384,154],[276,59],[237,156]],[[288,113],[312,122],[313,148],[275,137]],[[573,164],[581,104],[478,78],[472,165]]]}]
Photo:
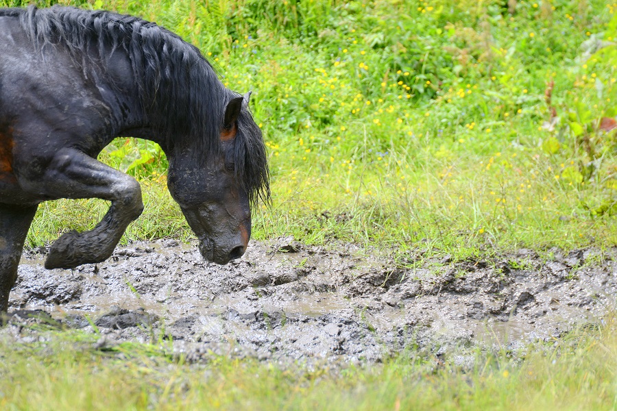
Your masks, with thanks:
[{"label": "mud-caked hoof end of the horse's raised, bent front leg", "polygon": [[93,242],[88,232],[71,231],[63,234],[51,245],[45,260],[46,269],[74,269],[82,264],[95,264],[107,260],[114,249],[108,250]]}]

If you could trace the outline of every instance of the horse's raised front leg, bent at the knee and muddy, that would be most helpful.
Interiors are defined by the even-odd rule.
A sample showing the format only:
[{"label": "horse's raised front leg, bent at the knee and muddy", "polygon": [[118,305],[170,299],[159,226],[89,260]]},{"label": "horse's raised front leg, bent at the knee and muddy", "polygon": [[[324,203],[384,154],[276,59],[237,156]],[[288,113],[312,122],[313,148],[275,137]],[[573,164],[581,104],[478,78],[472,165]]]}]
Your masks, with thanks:
[{"label": "horse's raised front leg, bent at the knee and muddy", "polygon": [[68,232],[51,245],[47,269],[73,269],[109,258],[124,230],[143,211],[136,180],[76,149],[64,149],[45,172],[45,190],[57,198],[111,201],[103,220],[88,232]]}]

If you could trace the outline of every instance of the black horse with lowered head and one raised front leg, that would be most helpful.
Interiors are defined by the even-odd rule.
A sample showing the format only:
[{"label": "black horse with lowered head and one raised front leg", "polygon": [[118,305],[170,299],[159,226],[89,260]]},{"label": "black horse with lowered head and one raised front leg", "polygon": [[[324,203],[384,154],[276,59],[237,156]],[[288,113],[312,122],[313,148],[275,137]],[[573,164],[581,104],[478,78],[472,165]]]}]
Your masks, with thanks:
[{"label": "black horse with lowered head and one raised front leg", "polygon": [[269,201],[249,97],[154,23],[76,8],[0,9],[0,313],[40,202],[111,201],[94,229],[53,243],[48,269],[106,260],[141,214],[138,182],[96,160],[117,136],[165,151],[167,186],[206,260],[242,256],[251,208]]}]

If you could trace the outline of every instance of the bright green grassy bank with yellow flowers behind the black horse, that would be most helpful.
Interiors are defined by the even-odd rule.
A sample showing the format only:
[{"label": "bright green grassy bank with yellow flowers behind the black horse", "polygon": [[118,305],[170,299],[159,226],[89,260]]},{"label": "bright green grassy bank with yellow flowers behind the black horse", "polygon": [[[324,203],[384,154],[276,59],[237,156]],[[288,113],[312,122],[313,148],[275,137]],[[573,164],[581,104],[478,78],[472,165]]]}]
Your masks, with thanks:
[{"label": "bright green grassy bank with yellow flowers behind the black horse", "polygon": [[[157,21],[230,88],[253,90],[273,193],[254,238],[421,244],[455,258],[617,243],[616,132],[599,127],[617,114],[614,4],[71,4]],[[191,238],[156,145],[120,139],[100,158],[145,186],[123,241]],[[45,203],[27,244],[92,227],[106,207]]]}]

